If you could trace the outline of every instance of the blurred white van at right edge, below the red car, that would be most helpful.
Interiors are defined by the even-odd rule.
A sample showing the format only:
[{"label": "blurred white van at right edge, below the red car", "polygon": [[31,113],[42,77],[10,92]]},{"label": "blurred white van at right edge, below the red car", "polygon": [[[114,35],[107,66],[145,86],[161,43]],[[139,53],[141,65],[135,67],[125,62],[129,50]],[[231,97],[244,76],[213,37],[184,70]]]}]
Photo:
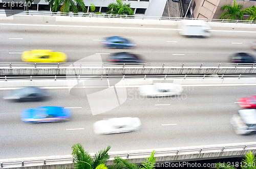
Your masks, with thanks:
[{"label": "blurred white van at right edge, below the red car", "polygon": [[233,115],[230,122],[236,134],[249,134],[256,131],[256,109],[238,110],[238,115]]}]

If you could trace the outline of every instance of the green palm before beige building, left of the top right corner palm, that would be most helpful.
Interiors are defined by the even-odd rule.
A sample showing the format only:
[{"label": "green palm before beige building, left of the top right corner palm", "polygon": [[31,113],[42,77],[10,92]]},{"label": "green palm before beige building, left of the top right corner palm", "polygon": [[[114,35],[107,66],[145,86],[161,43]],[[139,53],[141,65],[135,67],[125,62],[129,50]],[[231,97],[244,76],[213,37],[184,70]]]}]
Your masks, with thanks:
[{"label": "green palm before beige building, left of the top right corner palm", "polygon": [[236,4],[236,0],[234,0],[233,5],[224,5],[220,8],[221,11],[225,11],[221,14],[220,19],[231,19],[231,20],[242,20],[243,19],[243,12],[242,12],[243,5]]}]

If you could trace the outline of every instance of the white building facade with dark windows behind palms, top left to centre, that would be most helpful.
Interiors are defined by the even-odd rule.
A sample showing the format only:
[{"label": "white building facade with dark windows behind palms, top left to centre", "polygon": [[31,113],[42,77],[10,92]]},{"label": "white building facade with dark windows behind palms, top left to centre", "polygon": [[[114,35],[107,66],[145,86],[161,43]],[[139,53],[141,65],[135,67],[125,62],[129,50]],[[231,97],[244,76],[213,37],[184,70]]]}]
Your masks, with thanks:
[{"label": "white building facade with dark windows behind palms, top left to centre", "polygon": [[[10,0],[8,0],[10,2]],[[15,2],[20,2],[24,0],[15,0]],[[0,9],[4,9],[3,5],[5,0],[0,0]],[[25,2],[25,1],[24,1]],[[90,11],[91,4],[96,7],[95,12],[106,13],[109,11],[107,8],[110,3],[116,3],[116,0],[84,0],[87,12]],[[163,10],[166,4],[166,0],[123,0],[125,4],[131,4],[131,8],[134,10],[135,15],[146,15],[146,16],[162,16]],[[16,6],[10,7],[11,10],[24,10],[17,8]],[[45,0],[37,0],[31,4],[29,10],[36,11],[50,11],[50,7]]]}]

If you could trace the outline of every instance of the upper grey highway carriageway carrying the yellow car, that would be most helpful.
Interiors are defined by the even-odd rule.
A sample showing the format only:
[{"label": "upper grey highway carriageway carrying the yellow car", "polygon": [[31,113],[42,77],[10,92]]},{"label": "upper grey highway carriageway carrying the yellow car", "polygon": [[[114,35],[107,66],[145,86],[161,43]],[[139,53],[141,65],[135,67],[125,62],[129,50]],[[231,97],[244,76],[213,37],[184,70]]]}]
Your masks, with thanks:
[{"label": "upper grey highway carriageway carrying the yellow car", "polygon": [[[58,25],[57,25],[58,24]],[[21,53],[32,49],[65,52],[68,62],[100,53],[108,62],[114,52],[140,54],[150,63],[228,63],[234,52],[250,52],[256,39],[255,29],[212,27],[209,38],[186,38],[176,25],[125,25],[42,21],[1,21],[0,62],[22,62]],[[103,38],[123,36],[131,39],[135,49],[106,49]],[[91,60],[91,62],[99,62]]]}]

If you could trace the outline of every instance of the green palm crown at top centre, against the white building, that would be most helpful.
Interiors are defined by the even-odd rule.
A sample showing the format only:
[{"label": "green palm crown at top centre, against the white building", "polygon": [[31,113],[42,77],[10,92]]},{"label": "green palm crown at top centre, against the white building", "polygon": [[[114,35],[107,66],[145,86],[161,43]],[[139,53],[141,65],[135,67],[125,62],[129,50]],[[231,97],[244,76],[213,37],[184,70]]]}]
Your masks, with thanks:
[{"label": "green palm crown at top centre, against the white building", "polygon": [[109,4],[109,12],[106,14],[113,15],[134,15],[133,9],[130,8],[131,4],[123,4],[122,0],[117,0],[116,3]]}]

